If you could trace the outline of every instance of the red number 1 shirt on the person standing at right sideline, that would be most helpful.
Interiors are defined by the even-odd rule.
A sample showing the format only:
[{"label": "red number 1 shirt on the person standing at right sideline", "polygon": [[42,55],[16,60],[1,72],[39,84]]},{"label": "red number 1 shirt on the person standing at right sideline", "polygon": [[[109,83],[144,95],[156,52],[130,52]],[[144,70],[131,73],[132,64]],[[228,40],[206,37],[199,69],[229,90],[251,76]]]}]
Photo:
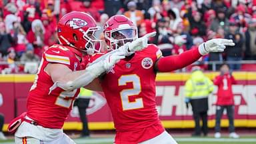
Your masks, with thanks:
[{"label": "red number 1 shirt on the person standing at right sideline", "polygon": [[218,86],[216,105],[234,105],[232,85],[235,83],[235,78],[229,73],[215,78],[214,85]]}]

